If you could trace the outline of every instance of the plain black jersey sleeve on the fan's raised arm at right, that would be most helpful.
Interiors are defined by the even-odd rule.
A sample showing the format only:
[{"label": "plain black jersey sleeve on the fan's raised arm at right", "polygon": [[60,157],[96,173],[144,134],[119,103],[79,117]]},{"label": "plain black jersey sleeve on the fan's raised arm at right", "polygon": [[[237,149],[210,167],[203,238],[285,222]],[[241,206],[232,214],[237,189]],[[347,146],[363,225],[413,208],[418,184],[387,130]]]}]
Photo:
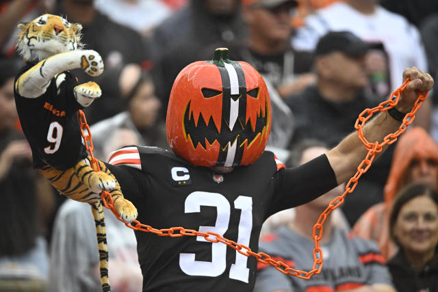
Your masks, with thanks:
[{"label": "plain black jersey sleeve on the fan's raised arm at right", "polygon": [[274,176],[274,196],[268,216],[318,198],[337,187],[335,172],[326,155],[296,168],[285,168]]}]

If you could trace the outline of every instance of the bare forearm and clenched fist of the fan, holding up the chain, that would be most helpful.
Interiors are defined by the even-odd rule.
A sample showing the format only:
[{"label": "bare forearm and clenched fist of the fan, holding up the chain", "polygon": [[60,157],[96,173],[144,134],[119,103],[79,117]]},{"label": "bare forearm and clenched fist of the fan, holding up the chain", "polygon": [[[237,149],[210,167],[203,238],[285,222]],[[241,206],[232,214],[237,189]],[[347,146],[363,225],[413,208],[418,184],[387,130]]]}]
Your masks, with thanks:
[{"label": "bare forearm and clenched fist of the fan, holding up the chain", "polygon": [[[402,113],[411,111],[419,92],[426,92],[433,86],[433,78],[415,67],[404,69],[403,81],[408,77],[411,81],[400,95],[400,101],[396,107]],[[401,122],[384,111],[365,124],[363,134],[369,142],[382,142],[386,135],[397,131],[400,125]],[[327,152],[326,155],[335,172],[337,183],[344,183],[353,176],[367,153],[368,150],[357,137],[357,133],[351,133],[339,145]]]}]

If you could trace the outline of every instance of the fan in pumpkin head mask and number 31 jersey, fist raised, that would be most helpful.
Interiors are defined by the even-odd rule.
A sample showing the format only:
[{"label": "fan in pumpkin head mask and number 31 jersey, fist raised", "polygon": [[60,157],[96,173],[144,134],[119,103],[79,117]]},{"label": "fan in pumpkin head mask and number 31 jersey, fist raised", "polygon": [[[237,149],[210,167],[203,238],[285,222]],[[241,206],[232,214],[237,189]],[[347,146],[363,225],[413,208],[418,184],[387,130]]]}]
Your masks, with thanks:
[{"label": "fan in pumpkin head mask and number 31 jersey, fist raised", "polygon": [[[229,60],[226,49],[218,49],[214,55],[211,61],[195,62],[186,67],[172,88],[166,132],[173,152],[134,145],[116,150],[110,162],[105,163],[105,167],[116,177],[125,198],[138,209],[139,222],[147,222],[156,228],[190,228],[190,232],[178,227],[171,229],[178,233],[181,231],[173,233],[175,236],[172,237],[178,238],[135,233],[143,291],[253,291],[257,267],[255,257],[240,255],[238,251],[244,248],[240,245],[234,248],[231,241],[229,243],[233,248],[227,248],[221,242],[201,241],[208,235],[217,235],[216,240],[222,241],[219,236],[223,235],[258,252],[261,223],[266,217],[310,202],[345,182],[357,172],[357,165],[367,153],[357,134],[350,133],[326,154],[298,168],[285,168],[273,152],[264,151],[271,114],[263,79],[249,64]],[[402,74],[403,79],[411,81],[400,94],[398,105],[391,111],[377,114],[365,125],[364,132],[370,141],[381,141],[389,133],[394,133],[401,123],[399,118],[394,118],[394,112],[410,111],[417,93],[426,92],[433,86],[432,77],[417,68],[408,68]],[[249,88],[256,90],[246,91]],[[235,94],[236,89],[238,94]],[[246,96],[242,98],[244,93]],[[203,106],[191,99],[193,96]],[[213,103],[206,103],[205,98]],[[239,109],[235,106],[235,99],[239,101]],[[199,120],[197,126],[194,126],[192,114],[190,118],[181,119],[181,114],[188,117],[185,115],[188,114],[188,101],[192,104],[190,111],[193,109],[200,113],[196,114]],[[222,131],[210,131],[216,128],[214,124],[211,124],[212,127],[200,127],[201,124],[206,125],[201,114],[207,111],[211,115],[216,108],[222,107],[222,103],[229,109],[215,113],[222,121]],[[259,109],[267,118],[256,121],[257,125],[253,123],[253,127],[243,127],[244,123],[238,121],[244,121],[244,117],[250,119],[249,114],[246,116],[246,109],[253,113],[251,120],[260,120],[256,116],[261,115],[255,113],[260,112]],[[230,121],[233,122],[233,130],[229,126]],[[229,130],[225,131],[226,127]],[[253,132],[252,129],[266,135],[263,134],[263,140],[258,139],[261,137],[259,134],[255,136],[255,144],[257,140],[260,143],[255,146],[257,148],[250,148],[249,159],[253,161],[247,159],[248,162],[245,162],[244,156],[237,154],[237,147],[246,154],[247,143],[240,144],[238,140],[248,131]],[[195,140],[197,147],[194,148],[192,138],[188,138],[192,134],[194,139],[204,139],[205,145],[209,144],[208,149],[212,144],[207,137],[215,139],[214,145],[225,141],[229,146],[222,148],[218,145],[215,150],[204,151],[206,148],[199,142],[201,140]],[[235,141],[233,146],[229,142],[230,137]],[[244,139],[247,140],[246,137]],[[173,142],[179,143],[179,146]],[[238,151],[242,153],[242,150]],[[145,225],[142,225],[142,230],[146,230]],[[193,233],[194,237],[179,236],[189,235],[195,230],[206,232],[203,233],[205,237],[196,237],[198,233]],[[164,235],[163,231],[154,228],[155,233]],[[216,241],[214,238],[208,239]]]}]

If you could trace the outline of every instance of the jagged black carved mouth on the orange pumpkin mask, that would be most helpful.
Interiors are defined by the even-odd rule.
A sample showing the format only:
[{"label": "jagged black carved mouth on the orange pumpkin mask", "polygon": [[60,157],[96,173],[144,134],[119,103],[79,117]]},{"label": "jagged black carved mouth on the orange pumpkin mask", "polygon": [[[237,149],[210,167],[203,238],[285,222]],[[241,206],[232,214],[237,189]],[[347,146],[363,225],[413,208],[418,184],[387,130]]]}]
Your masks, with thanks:
[{"label": "jagged black carved mouth on the orange pumpkin mask", "polygon": [[[205,120],[203,118],[202,112],[199,114],[199,118],[197,121],[197,126],[194,121],[193,113],[190,110],[190,102],[187,107],[185,107],[184,112],[184,120],[183,120],[183,131],[185,135],[185,140],[190,140],[194,148],[201,144],[204,149],[206,149],[206,143],[214,144],[215,141],[218,141],[220,144],[221,151],[225,151],[231,142],[233,145],[237,142],[237,147],[242,147],[245,144],[245,141],[248,141],[248,147],[259,135],[266,134],[266,126],[268,125],[268,104],[266,103],[265,109],[259,111],[257,118],[255,120],[255,130],[251,127],[251,119],[248,119],[248,122],[237,118],[237,122],[235,123],[235,127],[231,131],[229,125],[225,120],[221,119],[221,127],[220,132],[216,124],[214,123],[213,118],[210,116],[209,122],[205,124]],[[262,116],[262,112],[265,113]]]}]

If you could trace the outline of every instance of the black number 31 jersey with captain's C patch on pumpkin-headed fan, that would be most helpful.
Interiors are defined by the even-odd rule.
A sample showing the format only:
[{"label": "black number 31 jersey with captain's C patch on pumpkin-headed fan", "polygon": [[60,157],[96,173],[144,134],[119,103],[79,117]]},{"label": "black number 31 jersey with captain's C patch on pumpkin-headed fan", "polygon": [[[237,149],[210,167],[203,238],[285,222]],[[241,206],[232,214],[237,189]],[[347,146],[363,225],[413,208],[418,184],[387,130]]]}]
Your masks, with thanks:
[{"label": "black number 31 jersey with captain's C patch on pumpkin-headed fan", "polygon": [[[325,155],[285,168],[272,152],[228,174],[195,166],[172,152],[129,146],[108,158],[138,220],[153,228],[211,231],[257,252],[261,224],[337,185]],[[318,183],[315,183],[315,178]],[[253,291],[256,259],[203,237],[136,231],[143,291]]]}]

